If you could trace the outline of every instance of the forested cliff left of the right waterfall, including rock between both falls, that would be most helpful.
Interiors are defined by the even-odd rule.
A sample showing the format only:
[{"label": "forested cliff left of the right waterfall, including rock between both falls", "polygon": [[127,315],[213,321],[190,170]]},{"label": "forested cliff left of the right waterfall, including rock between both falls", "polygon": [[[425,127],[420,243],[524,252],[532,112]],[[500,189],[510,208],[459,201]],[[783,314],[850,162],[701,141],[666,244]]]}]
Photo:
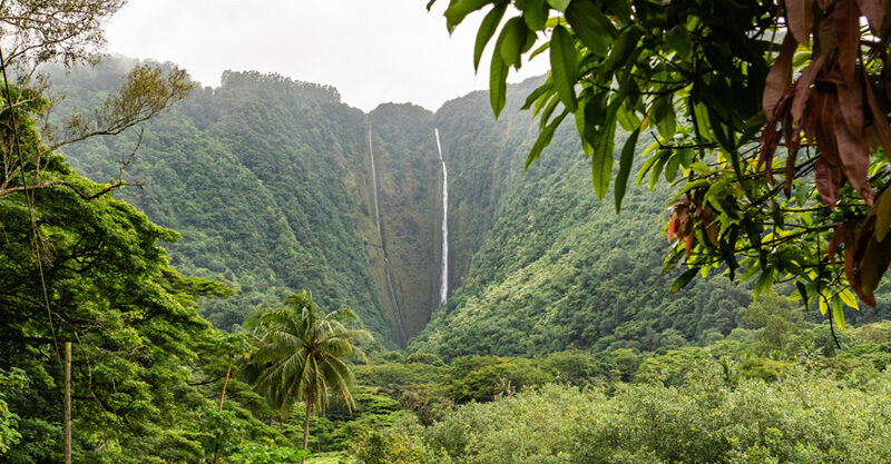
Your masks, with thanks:
[{"label": "forested cliff left of the right waterfall, including rock between both falls", "polygon": [[[55,72],[56,89],[69,96],[60,116],[100,101],[128,65]],[[85,175],[112,179],[135,141],[92,139],[66,155]],[[364,115],[330,87],[227,72],[219,88],[197,89],[146,126],[127,177],[146,188],[117,195],[182,234],[168,245],[173,263],[237,290],[207,302],[218,326],[306,288],[327,308],[353,307],[385,343],[401,345],[388,267],[408,337],[435,308],[441,165],[433,113],[420,107]]]}]

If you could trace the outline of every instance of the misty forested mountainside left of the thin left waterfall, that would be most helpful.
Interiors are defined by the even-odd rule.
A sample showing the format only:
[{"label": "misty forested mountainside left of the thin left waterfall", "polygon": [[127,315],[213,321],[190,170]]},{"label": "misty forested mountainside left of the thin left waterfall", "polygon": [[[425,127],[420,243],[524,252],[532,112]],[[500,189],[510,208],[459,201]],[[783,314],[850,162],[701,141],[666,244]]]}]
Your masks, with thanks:
[{"label": "misty forested mountainside left of the thin left waterfall", "polygon": [[[53,91],[67,96],[57,113],[95,107],[131,65],[56,70]],[[146,189],[119,196],[183,235],[168,246],[177,268],[235,290],[205,302],[216,326],[233,327],[257,305],[313,288],[321,303],[347,304],[390,335],[355,227],[369,207],[364,169],[350,169],[365,166],[364,127],[364,115],[332,88],[227,72],[218,89],[196,89],[147,125],[128,170]],[[97,138],[68,154],[77,169],[102,180],[117,175],[117,154],[135,144],[135,134]]]}]

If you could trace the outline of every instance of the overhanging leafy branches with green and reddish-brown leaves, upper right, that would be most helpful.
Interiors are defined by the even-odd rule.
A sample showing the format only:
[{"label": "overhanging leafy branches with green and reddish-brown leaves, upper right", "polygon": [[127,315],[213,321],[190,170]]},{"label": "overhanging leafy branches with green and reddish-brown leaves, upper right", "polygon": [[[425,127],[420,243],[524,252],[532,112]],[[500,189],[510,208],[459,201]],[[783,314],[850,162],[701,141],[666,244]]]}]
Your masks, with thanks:
[{"label": "overhanging leafy branches with green and reddish-brown leaves, upper right", "polygon": [[[635,146],[656,139],[637,182],[675,182],[666,269],[687,270],[673,292],[726,272],[757,276],[755,296],[794,280],[840,326],[854,293],[874,305],[891,261],[887,2],[452,0],[448,29],[484,9],[474,66],[503,23],[496,115],[510,67],[549,59],[525,105],[540,124],[527,166],[572,116],[594,189],[614,184],[618,210]],[[616,149],[619,128],[630,136]]]}]

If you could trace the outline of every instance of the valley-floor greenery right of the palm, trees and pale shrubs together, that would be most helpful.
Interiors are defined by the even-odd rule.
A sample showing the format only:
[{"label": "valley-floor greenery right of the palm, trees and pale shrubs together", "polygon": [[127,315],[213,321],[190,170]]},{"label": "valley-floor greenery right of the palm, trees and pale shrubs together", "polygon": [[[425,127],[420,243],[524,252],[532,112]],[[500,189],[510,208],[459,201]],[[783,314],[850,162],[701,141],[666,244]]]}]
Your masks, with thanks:
[{"label": "valley-floor greenery right of the palm, trees and pale shrubs together", "polygon": [[[535,358],[383,352],[352,417],[312,419],[319,463],[878,463],[891,457],[891,325],[834,344],[782,298],[702,347]],[[301,415],[285,425],[296,436]]]}]

